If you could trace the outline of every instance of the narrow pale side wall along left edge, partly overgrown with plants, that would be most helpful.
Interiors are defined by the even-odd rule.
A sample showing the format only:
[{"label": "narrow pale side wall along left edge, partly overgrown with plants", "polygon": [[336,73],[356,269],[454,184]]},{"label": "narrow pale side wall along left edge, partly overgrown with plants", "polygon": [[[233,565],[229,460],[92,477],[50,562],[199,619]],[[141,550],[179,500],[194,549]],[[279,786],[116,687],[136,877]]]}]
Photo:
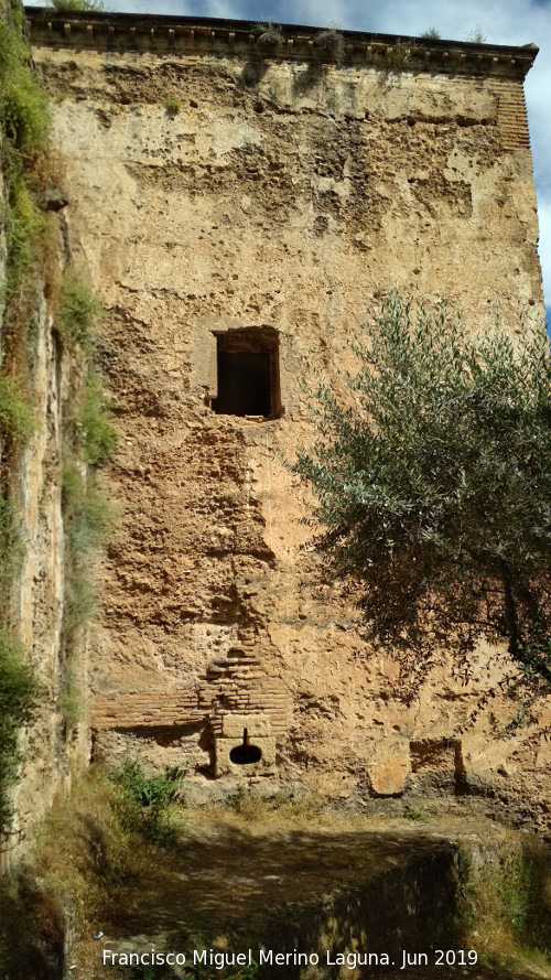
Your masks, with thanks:
[{"label": "narrow pale side wall along left edge, partly overgrown with plants", "polygon": [[[0,21],[17,28],[17,11],[0,2]],[[2,165],[7,138],[0,133]],[[7,168],[9,173],[9,168]],[[20,850],[21,831],[42,816],[69,778],[69,757],[86,755],[89,740],[82,728],[79,749],[67,746],[57,704],[63,658],[64,537],[61,509],[63,414],[68,397],[71,358],[53,332],[43,270],[36,267],[12,294],[8,276],[8,179],[0,171],[0,359],[14,362],[12,375],[28,398],[34,429],[24,450],[6,454],[0,440],[1,491],[10,499],[19,537],[13,581],[4,583],[6,626],[21,640],[33,665],[39,696],[32,723],[20,733],[23,766],[13,787],[14,822],[0,840],[0,871]],[[56,262],[52,249],[51,261]],[[24,312],[22,312],[24,311]],[[26,312],[30,315],[26,316]],[[14,348],[19,355],[14,355]],[[3,558],[3,556],[2,556]],[[6,573],[6,572],[4,572]]]}]

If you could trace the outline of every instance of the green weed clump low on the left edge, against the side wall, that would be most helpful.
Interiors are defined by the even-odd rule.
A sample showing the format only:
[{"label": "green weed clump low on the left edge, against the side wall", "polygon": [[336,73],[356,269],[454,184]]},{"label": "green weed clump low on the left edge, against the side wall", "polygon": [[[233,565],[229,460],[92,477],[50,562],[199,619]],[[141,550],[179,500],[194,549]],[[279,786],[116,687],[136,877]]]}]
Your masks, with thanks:
[{"label": "green weed clump low on the left edge, against the side wall", "polygon": [[0,624],[0,832],[11,820],[9,790],[15,782],[21,755],[18,732],[31,718],[37,687],[24,651]]}]

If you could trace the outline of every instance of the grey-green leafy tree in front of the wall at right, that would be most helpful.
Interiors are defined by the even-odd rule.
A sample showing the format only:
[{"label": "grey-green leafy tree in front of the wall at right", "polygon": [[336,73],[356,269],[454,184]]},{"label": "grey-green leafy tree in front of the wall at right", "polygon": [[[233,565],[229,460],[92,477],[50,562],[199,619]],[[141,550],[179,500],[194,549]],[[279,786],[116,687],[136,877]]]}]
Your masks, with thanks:
[{"label": "grey-green leafy tree in front of the wall at right", "polygon": [[551,681],[543,329],[476,336],[445,300],[391,292],[352,346],[345,397],[311,390],[317,439],[293,464],[329,573],[359,585],[379,643],[426,660],[506,638],[523,679]]}]

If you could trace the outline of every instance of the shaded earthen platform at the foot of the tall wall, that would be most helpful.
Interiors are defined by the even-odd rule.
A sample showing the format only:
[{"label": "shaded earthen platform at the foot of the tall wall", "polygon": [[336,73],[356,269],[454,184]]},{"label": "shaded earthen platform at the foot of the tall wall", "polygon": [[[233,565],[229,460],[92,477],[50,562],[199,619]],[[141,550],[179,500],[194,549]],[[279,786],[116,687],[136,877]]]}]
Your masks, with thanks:
[{"label": "shaded earthen platform at the foot of the tall wall", "polygon": [[[317,955],[317,966],[309,966],[304,980],[334,977],[338,955],[354,949],[376,951],[382,961],[379,968],[371,963],[357,970],[345,963],[342,977],[349,980],[551,978],[551,971],[530,968],[450,968],[445,959],[441,966],[435,961],[434,948],[445,952],[462,947],[454,925],[461,890],[457,837],[482,847],[479,830],[462,826],[452,837],[450,827],[444,832],[411,825],[307,830],[194,816],[176,846],[151,868],[148,881],[137,883],[102,924],[98,947],[118,952],[154,947],[186,956],[180,972],[153,977],[222,977],[216,965],[207,969],[210,949],[231,956],[250,948],[258,961],[263,948],[274,957],[293,950]],[[491,832],[499,836],[484,828],[485,847]],[[206,962],[186,972],[194,950],[201,957],[203,949]],[[410,956],[426,952],[429,965],[419,957],[402,968],[403,950]],[[261,976],[293,980],[299,972],[291,959],[287,966],[267,967]]]}]

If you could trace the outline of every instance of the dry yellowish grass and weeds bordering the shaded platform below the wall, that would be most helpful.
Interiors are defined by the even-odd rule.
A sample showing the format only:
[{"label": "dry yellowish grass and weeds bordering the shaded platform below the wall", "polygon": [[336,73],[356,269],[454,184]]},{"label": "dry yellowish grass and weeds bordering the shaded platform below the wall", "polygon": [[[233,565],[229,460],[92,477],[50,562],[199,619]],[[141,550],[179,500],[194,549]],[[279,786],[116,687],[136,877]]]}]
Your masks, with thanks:
[{"label": "dry yellowish grass and weeds bordering the shaded platform below the wall", "polygon": [[[42,917],[50,924],[53,941],[58,943],[63,920],[72,916],[74,961],[93,977],[98,968],[99,949],[94,935],[100,928],[116,936],[120,928],[130,928],[131,924],[141,933],[151,926],[151,908],[163,902],[171,909],[176,909],[180,902],[181,907],[177,906],[174,915],[179,920],[187,920],[187,916],[192,928],[188,902],[192,901],[191,907],[195,908],[195,900],[182,896],[180,872],[185,871],[190,862],[186,873],[191,875],[188,887],[192,887],[194,868],[197,871],[197,858],[195,864],[193,858],[195,848],[212,855],[214,848],[218,854],[219,869],[214,855],[212,863],[209,859],[204,868],[201,865],[196,880],[203,882],[205,873],[205,883],[209,882],[210,890],[219,889],[223,901],[228,887],[225,848],[231,850],[231,847],[242,846],[239,843],[242,834],[234,833],[234,830],[246,832],[247,839],[266,836],[276,848],[280,846],[278,841],[288,837],[285,832],[278,832],[281,830],[320,832],[321,836],[326,832],[328,839],[335,832],[354,834],[385,830],[391,831],[391,837],[403,838],[404,852],[409,849],[409,834],[412,842],[424,834],[435,839],[460,839],[464,834],[467,849],[476,834],[484,841],[484,851],[496,858],[493,862],[486,860],[478,869],[468,860],[462,866],[465,948],[469,945],[479,950],[485,961],[497,971],[496,976],[498,963],[504,968],[511,967],[511,973],[522,968],[523,976],[551,976],[543,954],[538,951],[544,948],[545,929],[549,935],[549,855],[527,834],[515,833],[490,821],[458,817],[434,819],[430,826],[421,828],[403,818],[389,821],[346,812],[315,794],[298,798],[281,794],[267,800],[245,787],[228,806],[210,805],[185,810],[174,806],[172,821],[179,831],[174,849],[152,847],[143,836],[128,829],[117,789],[101,769],[93,769],[75,783],[72,799],[54,807],[34,844],[29,875],[32,875],[35,891],[37,885],[40,887],[40,897],[33,900],[33,908],[40,913],[33,912],[26,930],[36,929],[35,923]],[[339,866],[337,859],[338,855],[335,866]],[[228,866],[231,868],[231,862]],[[216,945],[222,946],[223,940]],[[117,977],[116,971],[112,976]]]}]

